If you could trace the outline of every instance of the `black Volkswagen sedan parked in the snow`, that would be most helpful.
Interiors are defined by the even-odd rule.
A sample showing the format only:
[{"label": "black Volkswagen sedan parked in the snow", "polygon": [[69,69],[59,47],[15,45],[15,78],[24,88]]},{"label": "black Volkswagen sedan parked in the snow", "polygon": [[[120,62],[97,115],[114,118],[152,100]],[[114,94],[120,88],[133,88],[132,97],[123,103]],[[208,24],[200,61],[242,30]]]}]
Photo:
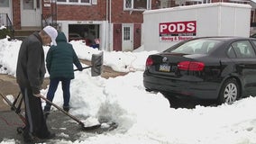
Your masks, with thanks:
[{"label": "black Volkswagen sedan parked in the snow", "polygon": [[256,94],[256,39],[204,37],[181,41],[146,60],[147,91],[217,103]]}]

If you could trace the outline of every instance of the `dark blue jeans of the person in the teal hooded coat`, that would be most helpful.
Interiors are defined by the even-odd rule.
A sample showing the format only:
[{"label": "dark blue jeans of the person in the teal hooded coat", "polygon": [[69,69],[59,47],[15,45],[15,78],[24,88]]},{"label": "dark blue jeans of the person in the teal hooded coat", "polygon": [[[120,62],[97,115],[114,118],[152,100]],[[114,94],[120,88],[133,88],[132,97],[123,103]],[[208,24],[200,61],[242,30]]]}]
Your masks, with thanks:
[{"label": "dark blue jeans of the person in the teal hooded coat", "polygon": [[[51,78],[50,79],[50,86],[49,90],[47,93],[47,99],[52,102],[54,94],[57,90],[57,87],[59,85],[59,81],[61,82],[62,86],[62,92],[63,92],[63,99],[64,99],[64,104],[63,107],[69,107],[69,100],[70,100],[70,79],[67,78]],[[50,103],[46,103],[46,106],[44,108],[44,111],[50,111]]]}]

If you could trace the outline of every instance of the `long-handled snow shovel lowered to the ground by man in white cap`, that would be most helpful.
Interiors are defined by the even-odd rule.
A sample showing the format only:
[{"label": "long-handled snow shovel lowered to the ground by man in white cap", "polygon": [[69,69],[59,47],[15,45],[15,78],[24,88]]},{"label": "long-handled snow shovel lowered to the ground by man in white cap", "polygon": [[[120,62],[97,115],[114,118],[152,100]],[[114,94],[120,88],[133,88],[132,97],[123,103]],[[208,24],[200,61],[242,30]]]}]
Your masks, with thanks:
[{"label": "long-handled snow shovel lowered to the ground by man in white cap", "polygon": [[79,121],[78,118],[76,118],[75,116],[71,115],[69,112],[64,111],[62,108],[60,108],[57,104],[52,103],[50,100],[48,100],[46,97],[44,96],[40,96],[41,99],[43,99],[44,101],[46,101],[47,103],[50,103],[51,105],[53,105],[54,107],[56,107],[60,112],[63,112],[64,114],[68,115],[71,119],[73,119],[74,121],[77,121],[79,125],[81,125],[82,130],[94,130],[97,129],[101,126],[101,123],[98,123],[96,125],[92,125],[92,126],[85,126],[85,123],[83,123],[82,121]]}]

